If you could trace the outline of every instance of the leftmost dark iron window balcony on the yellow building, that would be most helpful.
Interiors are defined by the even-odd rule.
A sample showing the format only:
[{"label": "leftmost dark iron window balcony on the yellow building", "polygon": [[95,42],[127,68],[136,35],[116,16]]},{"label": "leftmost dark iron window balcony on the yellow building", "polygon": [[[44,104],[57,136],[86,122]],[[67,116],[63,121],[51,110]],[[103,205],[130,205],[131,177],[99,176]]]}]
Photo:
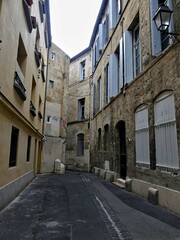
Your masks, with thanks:
[{"label": "leftmost dark iron window balcony on the yellow building", "polygon": [[16,92],[18,93],[18,95],[20,96],[20,98],[25,101],[26,100],[26,89],[23,85],[23,76],[21,73],[21,70],[17,68],[17,70],[15,71],[15,77],[14,77],[14,88],[16,90]]}]

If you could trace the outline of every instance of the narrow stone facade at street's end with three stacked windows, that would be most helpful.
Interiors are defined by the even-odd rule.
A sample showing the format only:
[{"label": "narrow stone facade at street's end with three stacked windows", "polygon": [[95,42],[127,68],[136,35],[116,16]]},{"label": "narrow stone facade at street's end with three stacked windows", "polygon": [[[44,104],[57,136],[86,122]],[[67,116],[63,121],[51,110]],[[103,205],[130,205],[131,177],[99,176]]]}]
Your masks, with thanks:
[{"label": "narrow stone facade at street's end with three stacked windows", "polygon": [[70,61],[65,158],[66,168],[71,170],[89,170],[91,62],[91,48]]}]

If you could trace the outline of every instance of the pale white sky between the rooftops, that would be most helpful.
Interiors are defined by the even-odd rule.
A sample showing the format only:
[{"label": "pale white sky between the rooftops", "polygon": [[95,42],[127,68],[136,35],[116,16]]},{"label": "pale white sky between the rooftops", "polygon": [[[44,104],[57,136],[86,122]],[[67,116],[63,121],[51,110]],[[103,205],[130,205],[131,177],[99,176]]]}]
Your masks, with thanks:
[{"label": "pale white sky between the rooftops", "polygon": [[52,42],[70,58],[89,46],[102,0],[50,0]]}]

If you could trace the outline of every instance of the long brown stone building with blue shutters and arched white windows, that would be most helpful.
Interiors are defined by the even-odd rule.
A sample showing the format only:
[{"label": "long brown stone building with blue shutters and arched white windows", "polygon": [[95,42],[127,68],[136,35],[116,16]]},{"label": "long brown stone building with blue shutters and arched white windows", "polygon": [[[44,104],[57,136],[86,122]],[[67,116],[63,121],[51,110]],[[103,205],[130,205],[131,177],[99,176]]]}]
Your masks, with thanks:
[{"label": "long brown stone building with blue shutters and arched white windows", "polygon": [[162,205],[177,211],[180,42],[156,29],[162,3],[173,10],[168,31],[180,32],[180,1],[102,2],[90,41],[90,154],[92,166],[109,161],[120,178],[134,179],[133,191],[147,197],[155,186]]}]

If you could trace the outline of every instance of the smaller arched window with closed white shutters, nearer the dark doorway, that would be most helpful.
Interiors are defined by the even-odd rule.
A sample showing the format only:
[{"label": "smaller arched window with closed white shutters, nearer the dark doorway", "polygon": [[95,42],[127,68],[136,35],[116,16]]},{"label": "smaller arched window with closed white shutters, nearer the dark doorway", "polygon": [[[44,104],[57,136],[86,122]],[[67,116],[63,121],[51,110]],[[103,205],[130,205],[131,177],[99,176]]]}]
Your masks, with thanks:
[{"label": "smaller arched window with closed white shutters, nearer the dark doorway", "polygon": [[139,107],[135,112],[136,162],[150,164],[148,108]]}]

